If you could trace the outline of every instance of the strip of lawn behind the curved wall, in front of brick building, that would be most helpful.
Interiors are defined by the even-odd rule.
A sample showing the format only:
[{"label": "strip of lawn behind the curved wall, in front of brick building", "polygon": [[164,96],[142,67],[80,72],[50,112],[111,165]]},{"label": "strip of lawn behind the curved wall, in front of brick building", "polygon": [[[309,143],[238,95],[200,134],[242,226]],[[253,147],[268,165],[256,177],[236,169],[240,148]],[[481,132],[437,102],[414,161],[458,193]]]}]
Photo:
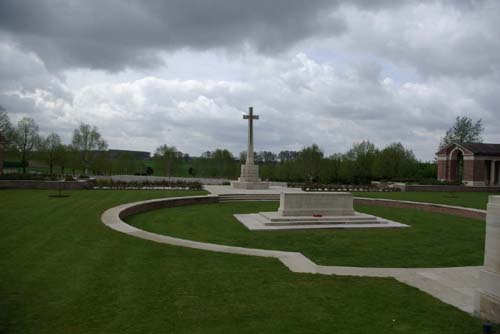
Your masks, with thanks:
[{"label": "strip of lawn behind the curved wall, in front of brick building", "polygon": [[482,210],[486,210],[488,196],[500,195],[500,193],[486,192],[355,192],[353,194],[358,197],[438,203]]}]

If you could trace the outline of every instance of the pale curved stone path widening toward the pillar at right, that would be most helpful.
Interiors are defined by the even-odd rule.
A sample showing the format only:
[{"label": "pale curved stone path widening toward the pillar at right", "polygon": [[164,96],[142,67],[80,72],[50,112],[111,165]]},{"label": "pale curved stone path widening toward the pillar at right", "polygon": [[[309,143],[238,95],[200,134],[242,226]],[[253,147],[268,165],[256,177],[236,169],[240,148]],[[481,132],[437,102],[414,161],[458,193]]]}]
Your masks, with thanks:
[{"label": "pale curved stone path widening toward the pillar at right", "polygon": [[[196,198],[216,197],[194,196]],[[454,268],[360,268],[360,267],[337,267],[321,266],[315,264],[309,258],[299,252],[285,252],[266,249],[234,247],[218,245],[205,242],[173,238],[165,235],[147,232],[126,224],[121,218],[125,218],[126,210],[145,206],[156,202],[168,202],[181,200],[185,197],[163,198],[149,201],[128,203],[106,210],[102,216],[102,222],[116,231],[129,234],[141,239],[151,240],[159,243],[202,249],[212,252],[231,253],[250,256],[271,257],[280,260],[292,272],[311,273],[323,275],[346,275],[365,277],[392,277],[396,280],[416,287],[441,301],[453,305],[465,312],[472,313],[474,305],[474,294],[479,287],[479,270],[481,267],[454,267]]]}]

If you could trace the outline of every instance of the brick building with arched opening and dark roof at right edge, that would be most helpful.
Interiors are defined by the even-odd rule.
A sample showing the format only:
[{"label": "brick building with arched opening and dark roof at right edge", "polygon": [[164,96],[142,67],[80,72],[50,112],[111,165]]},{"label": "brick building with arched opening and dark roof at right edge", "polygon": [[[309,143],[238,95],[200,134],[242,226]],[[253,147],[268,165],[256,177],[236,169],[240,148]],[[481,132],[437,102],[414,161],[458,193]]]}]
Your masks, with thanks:
[{"label": "brick building with arched opening and dark roof at right edge", "polygon": [[450,144],[436,154],[440,181],[479,187],[500,185],[500,144]]}]

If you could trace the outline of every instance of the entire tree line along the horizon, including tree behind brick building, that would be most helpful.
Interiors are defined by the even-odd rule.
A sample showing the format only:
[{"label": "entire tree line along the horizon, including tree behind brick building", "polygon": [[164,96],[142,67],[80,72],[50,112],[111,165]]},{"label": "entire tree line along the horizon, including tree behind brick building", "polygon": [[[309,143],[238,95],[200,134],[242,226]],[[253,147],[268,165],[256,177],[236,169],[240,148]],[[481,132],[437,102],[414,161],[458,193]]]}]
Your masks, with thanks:
[{"label": "entire tree line along the horizon, including tree behind brick building", "polygon": [[[440,146],[451,142],[481,141],[481,121],[457,117],[454,126],[442,138]],[[219,177],[236,179],[246,152],[235,157],[227,149],[206,151],[200,157],[190,157],[174,146],[159,146],[152,159],[139,161],[124,152],[111,157],[106,153],[107,143],[98,129],[80,124],[71,142],[64,144],[56,133],[46,137],[39,134],[39,127],[32,118],[23,118],[13,125],[5,110],[0,110],[0,134],[5,138],[7,150],[20,161],[23,173],[28,161],[44,161],[50,173],[63,174],[79,170],[84,174],[152,174],[163,176]],[[364,184],[373,180],[433,182],[436,164],[420,162],[413,152],[401,143],[377,148],[370,141],[355,143],[344,153],[326,156],[318,145],[299,151],[285,150],[278,153],[256,152],[255,163],[260,166],[260,176],[265,180],[284,182],[319,182]]]}]

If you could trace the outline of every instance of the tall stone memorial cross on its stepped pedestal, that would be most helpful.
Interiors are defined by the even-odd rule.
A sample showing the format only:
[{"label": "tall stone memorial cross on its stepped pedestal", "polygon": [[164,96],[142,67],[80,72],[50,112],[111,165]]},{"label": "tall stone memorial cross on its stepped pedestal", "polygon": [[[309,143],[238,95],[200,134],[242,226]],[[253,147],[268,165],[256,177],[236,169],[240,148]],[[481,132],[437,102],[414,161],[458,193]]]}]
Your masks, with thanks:
[{"label": "tall stone memorial cross on its stepped pedestal", "polygon": [[243,119],[248,119],[247,160],[241,165],[241,176],[238,181],[231,182],[231,186],[237,189],[268,189],[269,183],[261,181],[259,166],[253,160],[253,120],[259,119],[259,116],[254,115],[253,108],[250,107],[248,115],[243,115]]}]

